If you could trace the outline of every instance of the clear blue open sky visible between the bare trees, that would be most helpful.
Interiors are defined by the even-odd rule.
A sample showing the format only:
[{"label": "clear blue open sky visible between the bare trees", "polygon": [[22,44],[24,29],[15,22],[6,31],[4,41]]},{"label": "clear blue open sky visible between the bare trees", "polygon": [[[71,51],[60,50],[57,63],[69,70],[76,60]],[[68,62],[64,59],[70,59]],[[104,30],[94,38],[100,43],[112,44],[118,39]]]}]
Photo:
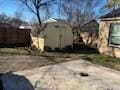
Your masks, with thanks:
[{"label": "clear blue open sky visible between the bare trees", "polygon": [[[106,0],[100,0],[101,5],[95,8],[96,14],[100,14],[100,8],[105,4]],[[21,7],[16,0],[0,0],[0,13],[5,13],[8,16],[14,16],[15,12],[22,12],[23,18],[26,21],[30,21],[33,15],[25,8]],[[52,17],[57,18],[55,13]]]}]

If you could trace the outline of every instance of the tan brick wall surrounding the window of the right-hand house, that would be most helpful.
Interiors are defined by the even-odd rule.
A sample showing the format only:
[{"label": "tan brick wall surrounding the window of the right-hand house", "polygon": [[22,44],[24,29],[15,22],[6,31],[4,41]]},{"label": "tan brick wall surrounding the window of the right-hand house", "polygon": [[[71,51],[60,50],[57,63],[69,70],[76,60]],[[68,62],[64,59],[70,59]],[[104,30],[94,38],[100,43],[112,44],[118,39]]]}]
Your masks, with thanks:
[{"label": "tan brick wall surrounding the window of the right-hand house", "polygon": [[109,46],[109,30],[111,23],[120,23],[120,20],[104,20],[100,22],[98,49],[100,53],[120,58],[120,48]]}]

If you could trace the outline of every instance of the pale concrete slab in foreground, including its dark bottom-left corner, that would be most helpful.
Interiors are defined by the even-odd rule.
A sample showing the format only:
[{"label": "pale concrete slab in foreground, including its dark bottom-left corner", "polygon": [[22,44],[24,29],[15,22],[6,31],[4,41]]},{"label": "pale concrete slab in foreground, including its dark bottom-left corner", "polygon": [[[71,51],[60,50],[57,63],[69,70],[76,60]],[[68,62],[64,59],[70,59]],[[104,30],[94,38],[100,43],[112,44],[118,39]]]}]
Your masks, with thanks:
[{"label": "pale concrete slab in foreground, including its dark bottom-left corner", "polygon": [[[81,76],[81,72],[88,76]],[[25,80],[13,79],[13,75]],[[120,90],[120,72],[75,60],[6,74],[2,82],[5,90]]]}]

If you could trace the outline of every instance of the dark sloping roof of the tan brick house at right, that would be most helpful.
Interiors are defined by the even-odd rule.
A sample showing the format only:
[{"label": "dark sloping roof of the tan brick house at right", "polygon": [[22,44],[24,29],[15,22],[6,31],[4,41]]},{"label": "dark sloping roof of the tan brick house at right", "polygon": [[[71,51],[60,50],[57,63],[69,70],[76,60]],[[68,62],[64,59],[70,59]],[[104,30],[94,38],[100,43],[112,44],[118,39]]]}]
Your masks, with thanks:
[{"label": "dark sloping roof of the tan brick house at right", "polygon": [[120,8],[113,10],[100,18],[114,18],[114,17],[120,17]]}]

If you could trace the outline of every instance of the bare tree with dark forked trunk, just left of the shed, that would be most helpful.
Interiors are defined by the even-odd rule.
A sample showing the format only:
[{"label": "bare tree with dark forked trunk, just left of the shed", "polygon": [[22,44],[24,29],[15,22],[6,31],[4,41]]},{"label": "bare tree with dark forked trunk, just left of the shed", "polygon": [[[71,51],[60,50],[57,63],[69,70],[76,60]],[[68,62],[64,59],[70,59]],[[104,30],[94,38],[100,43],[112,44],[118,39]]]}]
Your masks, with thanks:
[{"label": "bare tree with dark forked trunk, just left of the shed", "polygon": [[[43,31],[44,27],[42,25],[42,18],[41,16],[44,14],[45,17],[49,17],[50,15],[50,8],[53,4],[55,4],[56,0],[19,0],[22,2],[24,6],[26,6],[30,12],[32,12],[37,20],[38,26],[37,28],[37,38],[39,34]],[[39,48],[39,41],[38,41],[38,48]]]}]

